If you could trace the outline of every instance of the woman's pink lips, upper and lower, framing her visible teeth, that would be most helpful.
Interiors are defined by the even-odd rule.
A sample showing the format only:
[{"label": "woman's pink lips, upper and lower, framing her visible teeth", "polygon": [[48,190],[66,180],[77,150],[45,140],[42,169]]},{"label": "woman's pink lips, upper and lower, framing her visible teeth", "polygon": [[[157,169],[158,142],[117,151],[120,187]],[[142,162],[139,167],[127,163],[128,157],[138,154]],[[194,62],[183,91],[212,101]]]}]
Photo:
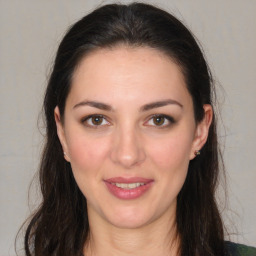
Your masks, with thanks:
[{"label": "woman's pink lips, upper and lower, framing her visible teeth", "polygon": [[[145,179],[141,177],[131,177],[131,178],[123,178],[123,177],[114,177],[107,180],[104,180],[109,192],[116,196],[119,199],[136,199],[146,193],[153,184],[152,179]],[[139,186],[137,188],[125,189],[119,188],[113,183],[145,183],[145,185]]]}]

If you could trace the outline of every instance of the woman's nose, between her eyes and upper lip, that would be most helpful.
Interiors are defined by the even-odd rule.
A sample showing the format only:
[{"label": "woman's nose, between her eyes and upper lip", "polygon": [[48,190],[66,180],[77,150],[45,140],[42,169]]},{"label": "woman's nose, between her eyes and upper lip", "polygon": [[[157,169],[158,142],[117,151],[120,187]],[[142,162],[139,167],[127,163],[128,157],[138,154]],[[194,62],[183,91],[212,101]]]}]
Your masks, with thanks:
[{"label": "woman's nose, between her eyes and upper lip", "polygon": [[137,166],[145,160],[142,139],[135,128],[120,128],[115,132],[110,157],[115,164],[125,169]]}]

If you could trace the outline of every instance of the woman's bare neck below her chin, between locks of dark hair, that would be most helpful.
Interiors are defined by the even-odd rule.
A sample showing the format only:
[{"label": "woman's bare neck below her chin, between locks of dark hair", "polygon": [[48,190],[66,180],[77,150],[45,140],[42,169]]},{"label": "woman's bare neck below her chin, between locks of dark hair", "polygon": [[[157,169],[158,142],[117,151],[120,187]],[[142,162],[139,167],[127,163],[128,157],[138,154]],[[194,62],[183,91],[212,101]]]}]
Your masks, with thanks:
[{"label": "woman's bare neck below her chin, between locks of dark hair", "polygon": [[179,237],[175,218],[159,218],[143,227],[115,227],[101,218],[90,219],[85,256],[177,256]]}]

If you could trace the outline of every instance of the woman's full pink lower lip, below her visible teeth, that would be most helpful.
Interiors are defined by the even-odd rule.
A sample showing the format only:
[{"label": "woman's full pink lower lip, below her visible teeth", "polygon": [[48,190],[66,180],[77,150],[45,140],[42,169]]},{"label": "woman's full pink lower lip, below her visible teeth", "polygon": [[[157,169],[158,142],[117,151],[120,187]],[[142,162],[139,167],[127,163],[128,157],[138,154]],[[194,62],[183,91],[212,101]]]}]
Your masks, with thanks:
[{"label": "woman's full pink lower lip, below her visible teeth", "polygon": [[139,186],[137,188],[132,188],[132,189],[119,188],[113,185],[112,183],[109,183],[106,181],[105,181],[105,184],[107,185],[107,188],[112,195],[116,196],[119,199],[128,200],[128,199],[136,199],[141,197],[150,189],[153,182],[149,182],[145,185]]}]

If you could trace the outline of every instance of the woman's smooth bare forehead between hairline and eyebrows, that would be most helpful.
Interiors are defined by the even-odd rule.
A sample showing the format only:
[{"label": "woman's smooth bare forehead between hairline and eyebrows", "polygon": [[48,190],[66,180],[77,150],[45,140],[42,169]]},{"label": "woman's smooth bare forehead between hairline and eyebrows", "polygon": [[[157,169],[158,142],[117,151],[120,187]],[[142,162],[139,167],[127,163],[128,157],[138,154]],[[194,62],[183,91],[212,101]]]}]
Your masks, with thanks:
[{"label": "woman's smooth bare forehead between hairline and eyebrows", "polygon": [[186,96],[181,68],[163,52],[149,47],[118,46],[93,51],[76,68],[69,98],[100,101],[153,101]]}]

